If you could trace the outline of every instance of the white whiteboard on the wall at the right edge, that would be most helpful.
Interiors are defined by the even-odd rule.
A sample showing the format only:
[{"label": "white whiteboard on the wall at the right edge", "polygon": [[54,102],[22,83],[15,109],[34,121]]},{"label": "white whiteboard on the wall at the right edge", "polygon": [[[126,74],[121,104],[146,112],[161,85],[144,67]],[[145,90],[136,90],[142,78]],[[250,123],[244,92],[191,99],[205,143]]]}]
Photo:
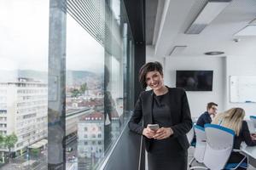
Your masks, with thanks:
[{"label": "white whiteboard on the wall at the right edge", "polygon": [[231,76],[230,102],[256,102],[256,76]]}]

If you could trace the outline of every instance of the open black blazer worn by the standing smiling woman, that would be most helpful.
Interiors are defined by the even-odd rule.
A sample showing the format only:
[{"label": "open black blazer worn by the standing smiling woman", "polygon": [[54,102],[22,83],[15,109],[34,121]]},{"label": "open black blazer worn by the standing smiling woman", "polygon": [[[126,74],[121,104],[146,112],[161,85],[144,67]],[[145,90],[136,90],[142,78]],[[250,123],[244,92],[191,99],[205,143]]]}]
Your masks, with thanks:
[{"label": "open black blazer worn by the standing smiling woman", "polygon": [[[183,150],[189,148],[189,142],[186,137],[186,133],[192,127],[192,120],[189,111],[189,102],[187,95],[182,88],[168,88],[170,97],[170,114],[172,115],[172,130],[173,134],[170,138],[177,138],[179,144],[183,147]],[[153,90],[144,91],[140,94],[133,115],[129,122],[129,128],[131,131],[143,134],[144,127],[151,124],[152,121],[152,102],[153,102]],[[139,122],[143,118],[143,126],[139,125]],[[146,150],[150,150],[150,144],[152,139],[143,138],[146,146]]]}]

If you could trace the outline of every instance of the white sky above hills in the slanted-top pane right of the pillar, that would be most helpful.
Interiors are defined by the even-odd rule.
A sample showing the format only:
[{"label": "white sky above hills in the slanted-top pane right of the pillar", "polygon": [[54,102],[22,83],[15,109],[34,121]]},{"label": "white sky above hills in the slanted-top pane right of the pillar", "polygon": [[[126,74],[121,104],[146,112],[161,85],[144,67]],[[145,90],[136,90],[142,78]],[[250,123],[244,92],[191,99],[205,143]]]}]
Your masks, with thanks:
[{"label": "white sky above hills in the slanted-top pane right of the pillar", "polygon": [[103,71],[104,48],[67,15],[67,70]]}]

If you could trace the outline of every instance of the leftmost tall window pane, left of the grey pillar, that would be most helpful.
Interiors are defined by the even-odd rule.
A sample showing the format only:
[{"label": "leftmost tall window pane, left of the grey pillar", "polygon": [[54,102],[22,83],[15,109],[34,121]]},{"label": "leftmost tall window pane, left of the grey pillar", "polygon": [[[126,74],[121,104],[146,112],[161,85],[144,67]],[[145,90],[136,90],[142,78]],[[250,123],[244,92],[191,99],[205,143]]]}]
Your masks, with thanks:
[{"label": "leftmost tall window pane, left of the grey pillar", "polygon": [[0,1],[1,169],[47,169],[48,35],[48,0]]}]

